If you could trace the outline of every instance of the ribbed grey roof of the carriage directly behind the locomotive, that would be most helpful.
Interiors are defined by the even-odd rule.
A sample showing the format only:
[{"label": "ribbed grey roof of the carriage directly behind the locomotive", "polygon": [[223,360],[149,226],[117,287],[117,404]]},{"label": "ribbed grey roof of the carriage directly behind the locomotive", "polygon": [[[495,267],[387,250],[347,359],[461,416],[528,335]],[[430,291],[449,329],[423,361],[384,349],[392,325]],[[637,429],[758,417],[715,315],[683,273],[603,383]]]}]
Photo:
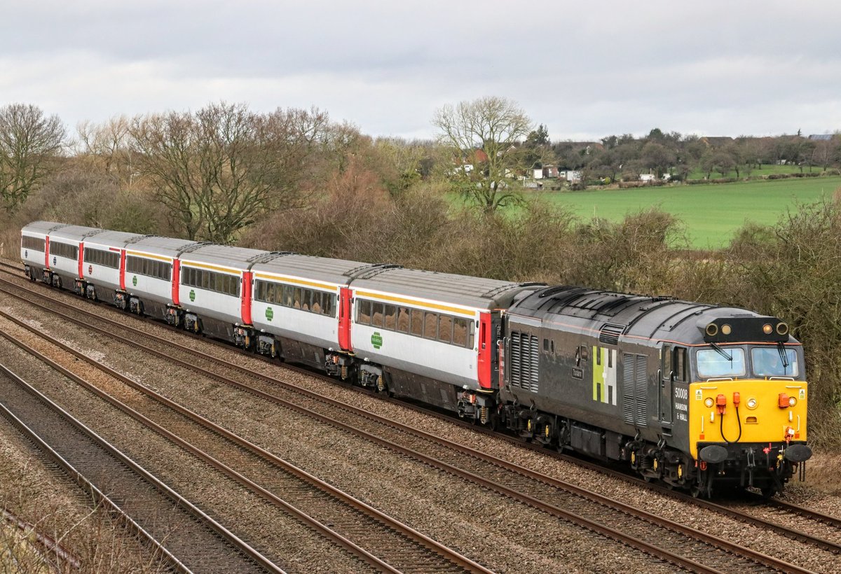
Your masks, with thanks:
[{"label": "ribbed grey roof of the carriage directly behind the locomotive", "polygon": [[371,289],[481,309],[508,307],[517,293],[536,285],[396,266],[371,266],[370,271],[357,274],[351,283],[355,289]]}]

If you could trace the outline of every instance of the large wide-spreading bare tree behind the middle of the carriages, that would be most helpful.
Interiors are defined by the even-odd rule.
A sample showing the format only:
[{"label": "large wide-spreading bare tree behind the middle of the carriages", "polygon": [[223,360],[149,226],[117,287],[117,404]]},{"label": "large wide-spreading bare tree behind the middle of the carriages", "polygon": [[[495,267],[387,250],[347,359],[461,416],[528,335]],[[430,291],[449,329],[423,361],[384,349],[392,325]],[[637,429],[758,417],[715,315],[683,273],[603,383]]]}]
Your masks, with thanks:
[{"label": "large wide-spreading bare tree behind the middle of the carriages", "polygon": [[218,103],[135,118],[130,134],[173,223],[190,239],[230,243],[262,213],[299,206],[306,158],[327,124],[316,109]]}]

